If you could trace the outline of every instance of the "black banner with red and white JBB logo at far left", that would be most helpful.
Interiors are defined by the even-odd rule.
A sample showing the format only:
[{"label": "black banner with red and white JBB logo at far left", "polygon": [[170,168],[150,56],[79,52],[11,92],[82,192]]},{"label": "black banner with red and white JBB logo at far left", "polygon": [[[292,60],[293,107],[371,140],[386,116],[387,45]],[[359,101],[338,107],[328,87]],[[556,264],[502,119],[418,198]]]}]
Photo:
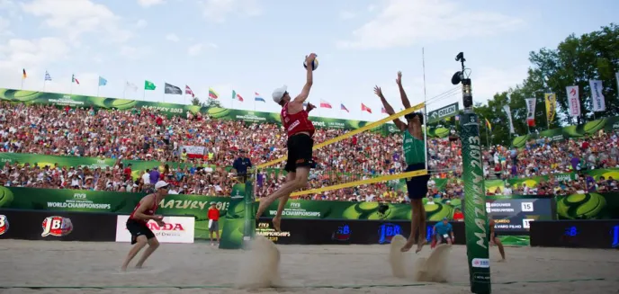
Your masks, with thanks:
[{"label": "black banner with red and white JBB logo at far left", "polygon": [[0,239],[110,242],[115,221],[110,213],[0,209]]}]

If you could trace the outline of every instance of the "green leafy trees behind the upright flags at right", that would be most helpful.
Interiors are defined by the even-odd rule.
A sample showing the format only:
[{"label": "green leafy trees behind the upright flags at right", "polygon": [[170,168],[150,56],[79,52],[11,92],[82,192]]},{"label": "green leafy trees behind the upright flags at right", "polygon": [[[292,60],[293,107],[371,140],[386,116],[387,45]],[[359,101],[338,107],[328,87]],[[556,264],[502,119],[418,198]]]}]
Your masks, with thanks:
[{"label": "green leafy trees behind the upright flags at right", "polygon": [[[503,93],[495,94],[487,105],[476,105],[475,111],[480,119],[488,119],[492,124],[490,144],[509,145],[509,123],[503,105],[509,104],[516,135],[525,135],[525,98],[537,98],[535,105],[535,127],[530,131],[547,129],[544,93],[557,96],[557,115],[550,123],[550,129],[574,124],[568,116],[566,87],[579,85],[582,115],[579,123],[593,120],[592,100],[589,79],[601,80],[604,84],[606,111],[597,112],[597,118],[619,115],[619,99],[615,73],[619,72],[619,26],[611,23],[599,31],[586,33],[580,37],[570,35],[557,49],[543,48],[529,54],[531,67],[522,85],[516,85]],[[473,81],[474,85],[474,81]],[[485,124],[480,129],[481,142],[486,143]],[[512,135],[514,136],[514,135]]]}]

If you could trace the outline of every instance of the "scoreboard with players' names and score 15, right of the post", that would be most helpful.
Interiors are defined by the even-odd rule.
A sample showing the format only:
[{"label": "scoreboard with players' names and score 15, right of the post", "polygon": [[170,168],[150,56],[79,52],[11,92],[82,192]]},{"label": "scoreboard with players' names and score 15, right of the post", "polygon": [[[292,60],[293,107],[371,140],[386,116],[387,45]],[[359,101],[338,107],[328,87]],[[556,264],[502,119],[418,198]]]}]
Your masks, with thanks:
[{"label": "scoreboard with players' names and score 15, right of the post", "polygon": [[552,196],[487,196],[486,212],[498,233],[526,234],[532,221],[555,219]]}]

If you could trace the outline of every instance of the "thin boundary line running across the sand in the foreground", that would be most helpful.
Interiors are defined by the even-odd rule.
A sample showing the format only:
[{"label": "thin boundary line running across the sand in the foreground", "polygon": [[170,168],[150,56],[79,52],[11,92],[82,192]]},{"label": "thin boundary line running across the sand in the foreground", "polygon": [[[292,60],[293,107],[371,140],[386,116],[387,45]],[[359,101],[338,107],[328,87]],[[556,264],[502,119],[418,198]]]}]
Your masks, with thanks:
[{"label": "thin boundary line running across the sand in the foreground", "polygon": [[[492,282],[492,285],[512,285],[519,283],[557,283],[557,282],[577,282],[577,281],[619,281],[619,279],[606,278],[575,278],[575,279],[555,279],[555,280],[533,280],[533,281],[499,281]],[[362,288],[405,288],[430,285],[448,286],[469,286],[468,282],[439,283],[439,282],[416,282],[401,284],[361,284],[361,285],[300,285],[300,286],[280,286],[269,287],[270,289],[362,289]],[[269,289],[265,288],[265,289]],[[0,289],[242,289],[232,284],[223,285],[155,285],[155,286],[26,286],[26,285],[0,285]]]}]

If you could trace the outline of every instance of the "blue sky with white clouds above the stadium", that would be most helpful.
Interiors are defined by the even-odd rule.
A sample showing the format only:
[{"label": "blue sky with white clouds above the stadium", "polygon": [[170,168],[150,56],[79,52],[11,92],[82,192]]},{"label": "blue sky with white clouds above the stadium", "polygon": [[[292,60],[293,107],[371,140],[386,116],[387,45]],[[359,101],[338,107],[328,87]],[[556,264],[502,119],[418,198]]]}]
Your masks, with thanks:
[{"label": "blue sky with white clouds above the stadium", "polygon": [[[314,52],[309,101],[333,107],[314,114],[372,121],[385,116],[374,85],[402,108],[399,70],[412,104],[462,106],[451,77],[463,51],[473,98],[486,102],[525,79],[530,51],[616,22],[617,11],[616,0],[0,0],[0,87],[190,101],[163,94],[168,83],[202,99],[211,87],[224,107],[279,111],[271,93],[282,85],[300,93],[303,60]],[[143,91],[145,80],[157,89]],[[232,90],[245,101],[232,101]]]}]

